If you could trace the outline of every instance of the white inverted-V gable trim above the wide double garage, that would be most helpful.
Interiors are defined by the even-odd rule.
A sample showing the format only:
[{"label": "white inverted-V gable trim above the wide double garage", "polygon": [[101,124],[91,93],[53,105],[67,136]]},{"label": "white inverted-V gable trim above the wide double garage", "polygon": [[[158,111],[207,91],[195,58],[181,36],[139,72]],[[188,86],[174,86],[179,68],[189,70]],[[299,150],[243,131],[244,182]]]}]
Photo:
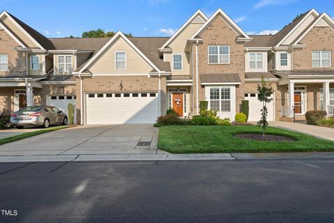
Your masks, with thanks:
[{"label": "white inverted-V gable trim above the wide double garage", "polygon": [[149,60],[123,33],[118,31],[116,35],[111,38],[111,40],[106,42],[106,44],[100,49],[100,51],[98,51],[92,58],[90,58],[90,60],[88,60],[88,62],[83,67],[81,67],[79,73],[84,72],[90,65],[92,65],[97,60],[97,58],[99,58],[99,56],[101,56],[102,53],[106,51],[106,49],[109,49],[109,46],[111,46],[111,44],[118,40],[118,38],[122,38],[123,40],[125,40],[129,47],[132,47],[132,49],[134,49],[134,51],[136,51],[136,53],[138,53],[138,55],[141,56],[141,58],[143,58],[143,60],[145,60],[145,62],[152,67],[152,69],[155,69],[157,72],[161,72],[160,69],[158,69],[158,67],[154,65],[152,61]]}]

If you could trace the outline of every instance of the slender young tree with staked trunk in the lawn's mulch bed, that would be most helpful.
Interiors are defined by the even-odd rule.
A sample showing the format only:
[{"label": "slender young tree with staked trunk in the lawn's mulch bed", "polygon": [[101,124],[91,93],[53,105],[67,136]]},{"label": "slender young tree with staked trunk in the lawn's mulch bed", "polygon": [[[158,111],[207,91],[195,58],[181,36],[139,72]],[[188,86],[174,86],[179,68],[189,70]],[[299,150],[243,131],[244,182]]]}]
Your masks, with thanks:
[{"label": "slender young tree with staked trunk in the lawn's mulch bed", "polygon": [[270,103],[273,99],[270,97],[273,94],[273,88],[271,87],[271,83],[266,83],[264,78],[262,77],[261,85],[257,85],[258,97],[257,99],[262,102],[261,111],[261,119],[257,122],[257,126],[262,128],[262,135],[264,136],[266,132],[267,126],[269,126],[267,122],[268,116],[268,108],[267,104]]}]

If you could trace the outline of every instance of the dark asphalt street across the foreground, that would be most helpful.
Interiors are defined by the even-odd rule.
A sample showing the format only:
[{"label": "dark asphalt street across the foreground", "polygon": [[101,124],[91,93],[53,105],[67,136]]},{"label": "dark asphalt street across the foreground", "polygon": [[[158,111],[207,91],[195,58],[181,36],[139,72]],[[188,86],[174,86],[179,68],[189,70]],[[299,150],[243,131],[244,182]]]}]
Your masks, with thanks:
[{"label": "dark asphalt street across the foreground", "polygon": [[0,209],[6,223],[332,223],[334,160],[0,163]]}]

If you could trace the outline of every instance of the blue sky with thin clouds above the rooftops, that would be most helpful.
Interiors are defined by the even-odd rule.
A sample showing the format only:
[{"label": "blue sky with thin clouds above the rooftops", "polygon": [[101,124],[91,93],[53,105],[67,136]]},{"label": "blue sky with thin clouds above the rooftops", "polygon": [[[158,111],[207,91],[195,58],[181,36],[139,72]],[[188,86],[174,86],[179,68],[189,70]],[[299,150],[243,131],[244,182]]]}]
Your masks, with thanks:
[{"label": "blue sky with thin clouds above the rooftops", "polygon": [[80,36],[102,28],[134,36],[168,36],[200,9],[222,8],[246,33],[275,33],[315,8],[334,17],[333,0],[0,0],[7,10],[47,37]]}]

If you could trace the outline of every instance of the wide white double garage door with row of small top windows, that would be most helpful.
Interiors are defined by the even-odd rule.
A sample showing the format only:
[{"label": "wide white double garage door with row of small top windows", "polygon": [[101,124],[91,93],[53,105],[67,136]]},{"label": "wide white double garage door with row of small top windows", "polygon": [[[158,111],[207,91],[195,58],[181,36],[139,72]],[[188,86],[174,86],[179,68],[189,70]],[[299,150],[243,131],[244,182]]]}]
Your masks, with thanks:
[{"label": "wide white double garage door with row of small top windows", "polygon": [[157,93],[87,93],[87,124],[152,124],[159,111]]}]

